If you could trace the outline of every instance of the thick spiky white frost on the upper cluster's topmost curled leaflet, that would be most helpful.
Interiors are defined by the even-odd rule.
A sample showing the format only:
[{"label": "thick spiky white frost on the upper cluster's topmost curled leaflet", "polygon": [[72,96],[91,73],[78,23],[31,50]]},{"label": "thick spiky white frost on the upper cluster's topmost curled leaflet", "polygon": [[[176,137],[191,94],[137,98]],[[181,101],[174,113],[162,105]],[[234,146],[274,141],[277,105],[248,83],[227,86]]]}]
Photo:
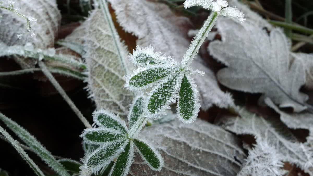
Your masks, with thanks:
[{"label": "thick spiky white frost on the upper cluster's topmost curled leaflet", "polygon": [[133,50],[133,54],[129,54],[128,59],[131,60],[135,66],[145,66],[149,63],[138,62],[138,59],[147,60],[149,57],[153,58],[153,61],[156,63],[165,63],[171,59],[171,57],[167,57],[166,54],[155,52],[151,45],[142,49],[137,45],[136,50]]}]

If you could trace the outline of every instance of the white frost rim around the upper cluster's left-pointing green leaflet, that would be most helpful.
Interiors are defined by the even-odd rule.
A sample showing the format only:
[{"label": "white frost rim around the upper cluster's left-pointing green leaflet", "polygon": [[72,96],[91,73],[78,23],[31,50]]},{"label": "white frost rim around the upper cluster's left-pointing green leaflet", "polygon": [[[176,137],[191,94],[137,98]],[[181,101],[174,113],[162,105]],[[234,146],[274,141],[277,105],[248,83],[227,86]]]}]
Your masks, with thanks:
[{"label": "white frost rim around the upper cluster's left-pointing green leaflet", "polygon": [[[147,65],[146,67],[138,67],[138,69],[134,70],[132,74],[124,76],[124,78],[126,80],[126,84],[124,85],[124,87],[126,87],[128,90],[131,90],[131,91],[140,91],[142,89],[152,87],[153,85],[158,84],[160,81],[166,80],[168,78],[168,76],[175,73],[178,70],[177,65],[178,65],[177,62],[172,61],[172,62],[161,64],[161,65],[156,64],[156,65]],[[159,80],[156,80],[155,82],[151,82],[147,85],[141,86],[141,87],[138,87],[138,86],[135,87],[133,85],[130,85],[131,78],[134,77],[135,75],[140,74],[141,72],[144,72],[144,71],[149,71],[150,74],[149,75],[143,75],[142,79],[144,79],[146,77],[151,77],[151,76],[163,75],[165,72],[158,72],[158,70],[157,70],[157,69],[161,69],[161,68],[166,70],[165,72],[168,72],[167,76],[165,76]]]}]

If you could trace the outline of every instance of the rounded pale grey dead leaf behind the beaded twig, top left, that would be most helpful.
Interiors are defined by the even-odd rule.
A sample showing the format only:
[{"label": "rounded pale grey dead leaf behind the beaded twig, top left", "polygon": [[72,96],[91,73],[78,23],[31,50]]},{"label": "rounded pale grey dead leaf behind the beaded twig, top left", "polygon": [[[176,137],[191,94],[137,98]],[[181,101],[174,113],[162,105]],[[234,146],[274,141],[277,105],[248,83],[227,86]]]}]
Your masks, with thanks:
[{"label": "rounded pale grey dead leaf behind the beaded twig, top left", "polygon": [[[18,39],[18,34],[22,34],[26,29],[25,19],[1,9],[3,17],[0,18],[0,41],[9,46],[30,42],[38,49],[54,47],[54,40],[61,22],[56,0],[18,0],[15,1],[14,7],[21,8],[19,13],[37,19],[37,22],[31,25],[35,35],[31,36],[31,33],[26,33]],[[35,64],[35,61],[31,59],[17,58],[16,60],[24,68],[33,67]]]}]

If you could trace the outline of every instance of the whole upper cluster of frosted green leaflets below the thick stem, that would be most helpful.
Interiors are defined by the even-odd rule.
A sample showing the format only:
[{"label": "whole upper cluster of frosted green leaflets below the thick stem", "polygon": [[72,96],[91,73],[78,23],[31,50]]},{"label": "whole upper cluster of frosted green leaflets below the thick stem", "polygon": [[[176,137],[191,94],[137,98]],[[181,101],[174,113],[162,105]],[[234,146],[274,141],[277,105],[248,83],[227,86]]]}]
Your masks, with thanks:
[{"label": "whole upper cluster of frosted green leaflets below the thick stem", "polygon": [[[157,118],[169,109],[169,104],[175,103],[178,98],[177,110],[179,118],[184,123],[193,122],[199,112],[199,93],[197,85],[190,75],[202,74],[200,71],[193,71],[191,68],[181,69],[178,63],[162,54],[154,53],[150,46],[144,49],[137,47],[131,58],[134,64],[146,60],[143,67],[139,66],[130,76],[125,76],[126,85],[132,91],[153,87],[146,99],[145,112],[147,117]],[[136,57],[136,56],[144,56]],[[163,62],[163,60],[167,60]],[[150,62],[153,61],[152,64]]]}]

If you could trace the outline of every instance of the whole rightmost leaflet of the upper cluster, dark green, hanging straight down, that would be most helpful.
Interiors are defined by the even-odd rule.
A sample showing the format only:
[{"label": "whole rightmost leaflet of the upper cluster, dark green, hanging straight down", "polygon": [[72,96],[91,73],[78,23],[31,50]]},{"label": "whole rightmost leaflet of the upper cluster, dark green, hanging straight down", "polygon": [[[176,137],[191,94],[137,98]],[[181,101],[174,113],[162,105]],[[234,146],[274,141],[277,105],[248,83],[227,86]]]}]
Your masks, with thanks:
[{"label": "whole rightmost leaflet of the upper cluster, dark green, hanging straight down", "polygon": [[199,112],[199,93],[192,78],[184,75],[180,85],[177,114],[184,123],[194,122]]}]

